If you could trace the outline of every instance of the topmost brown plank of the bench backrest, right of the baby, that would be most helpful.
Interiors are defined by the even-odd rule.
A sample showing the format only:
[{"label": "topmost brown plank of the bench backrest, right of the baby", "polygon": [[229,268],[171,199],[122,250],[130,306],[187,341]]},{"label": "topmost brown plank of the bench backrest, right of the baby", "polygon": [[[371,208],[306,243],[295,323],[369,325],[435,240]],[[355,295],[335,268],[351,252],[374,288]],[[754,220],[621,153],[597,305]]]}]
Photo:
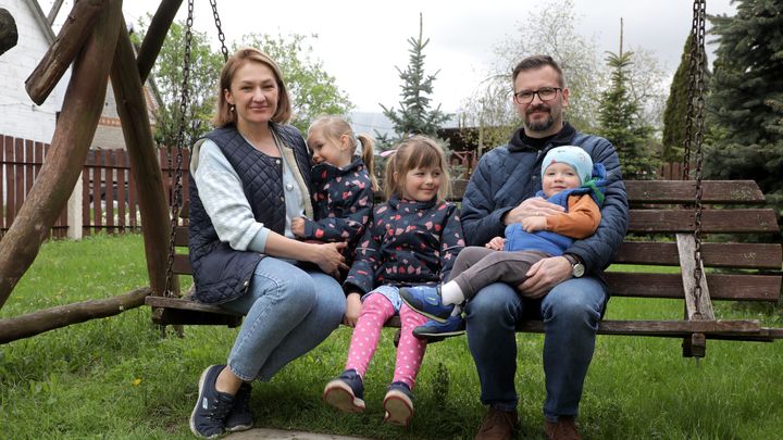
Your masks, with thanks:
[{"label": "topmost brown plank of the bench backrest, right of the baby", "polygon": [[[625,180],[631,203],[693,203],[695,180]],[[703,203],[763,204],[763,193],[754,180],[703,180]]]}]

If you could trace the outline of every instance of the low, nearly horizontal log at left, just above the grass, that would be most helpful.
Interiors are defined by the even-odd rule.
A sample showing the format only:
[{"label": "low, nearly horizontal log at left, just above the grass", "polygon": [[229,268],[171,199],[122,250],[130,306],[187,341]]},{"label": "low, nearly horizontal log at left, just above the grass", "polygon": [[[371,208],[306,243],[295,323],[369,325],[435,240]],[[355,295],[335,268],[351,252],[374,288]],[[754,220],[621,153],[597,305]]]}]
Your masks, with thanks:
[{"label": "low, nearly horizontal log at left, just above the grass", "polygon": [[141,288],[114,298],[59,305],[27,315],[0,319],[0,343],[29,338],[71,324],[119,315],[144,305],[144,299],[149,293],[149,288]]}]

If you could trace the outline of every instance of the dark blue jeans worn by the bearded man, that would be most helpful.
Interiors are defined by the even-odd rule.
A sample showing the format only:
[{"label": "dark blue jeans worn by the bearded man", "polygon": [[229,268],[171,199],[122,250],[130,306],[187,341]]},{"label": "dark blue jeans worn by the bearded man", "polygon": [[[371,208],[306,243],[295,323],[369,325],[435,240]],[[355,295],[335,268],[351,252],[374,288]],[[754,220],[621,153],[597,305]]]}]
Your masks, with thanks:
[{"label": "dark blue jeans worn by the bearded man", "polygon": [[481,289],[465,313],[482,403],[502,411],[517,408],[515,328],[524,319],[543,319],[544,415],[551,422],[575,416],[606,298],[604,285],[592,277],[568,279],[537,300],[524,299],[499,282]]}]

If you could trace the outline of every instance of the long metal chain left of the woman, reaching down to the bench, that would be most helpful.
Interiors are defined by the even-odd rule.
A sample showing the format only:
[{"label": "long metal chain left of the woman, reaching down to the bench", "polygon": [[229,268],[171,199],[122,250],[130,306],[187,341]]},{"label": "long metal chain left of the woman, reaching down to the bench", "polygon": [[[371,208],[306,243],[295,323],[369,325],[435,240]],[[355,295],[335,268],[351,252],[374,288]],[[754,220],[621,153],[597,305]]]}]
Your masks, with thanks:
[{"label": "long metal chain left of the woman, reaching down to the bench", "polygon": [[194,0],[188,0],[188,17],[185,24],[185,55],[183,58],[183,79],[179,89],[179,117],[178,130],[175,138],[176,159],[175,172],[172,179],[172,206],[171,206],[171,236],[169,237],[169,263],[166,266],[165,297],[173,297],[172,279],[174,277],[174,240],[176,239],[176,229],[179,226],[177,218],[179,217],[179,206],[182,206],[182,163],[183,163],[183,144],[185,143],[185,124],[187,115],[187,105],[190,100],[190,47],[192,45],[192,10]]}]

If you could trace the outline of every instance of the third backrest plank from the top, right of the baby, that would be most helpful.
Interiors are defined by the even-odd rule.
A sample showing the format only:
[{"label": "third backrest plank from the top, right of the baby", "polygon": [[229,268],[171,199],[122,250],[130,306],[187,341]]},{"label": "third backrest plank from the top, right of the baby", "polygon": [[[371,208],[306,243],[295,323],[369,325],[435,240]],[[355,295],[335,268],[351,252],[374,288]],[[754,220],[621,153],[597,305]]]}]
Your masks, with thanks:
[{"label": "third backrest plank from the top, right of the baby", "polygon": [[[776,243],[701,243],[708,267],[737,267],[778,271],[783,265],[783,248]],[[625,241],[612,260],[618,264],[678,266],[675,242]]]}]

